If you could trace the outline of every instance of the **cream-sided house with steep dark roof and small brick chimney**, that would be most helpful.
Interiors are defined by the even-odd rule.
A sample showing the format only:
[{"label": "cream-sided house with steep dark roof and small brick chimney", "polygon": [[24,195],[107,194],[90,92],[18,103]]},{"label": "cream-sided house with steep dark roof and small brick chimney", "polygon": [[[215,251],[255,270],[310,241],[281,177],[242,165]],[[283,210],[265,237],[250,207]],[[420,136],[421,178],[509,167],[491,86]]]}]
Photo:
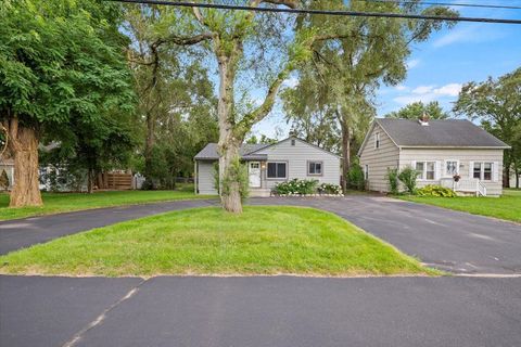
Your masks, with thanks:
[{"label": "cream-sided house with steep dark roof and small brick chimney", "polygon": [[[389,192],[387,168],[418,170],[417,184],[462,194],[503,192],[503,154],[509,146],[469,120],[377,118],[358,152],[367,189]],[[459,175],[459,182],[454,176]]]}]

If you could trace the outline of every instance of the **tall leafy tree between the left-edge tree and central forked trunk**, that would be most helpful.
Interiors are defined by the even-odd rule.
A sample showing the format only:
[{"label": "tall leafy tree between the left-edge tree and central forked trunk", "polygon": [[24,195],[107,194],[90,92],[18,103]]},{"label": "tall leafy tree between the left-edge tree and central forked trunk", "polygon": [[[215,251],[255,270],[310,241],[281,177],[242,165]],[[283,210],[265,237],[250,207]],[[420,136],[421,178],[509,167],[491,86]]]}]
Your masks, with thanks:
[{"label": "tall leafy tree between the left-edge tree and central forked trunk", "polygon": [[176,176],[193,172],[193,156],[217,140],[214,85],[191,46],[198,39],[171,36],[179,13],[169,7],[125,7],[128,60],[144,123],[144,166],[149,189],[173,189]]}]

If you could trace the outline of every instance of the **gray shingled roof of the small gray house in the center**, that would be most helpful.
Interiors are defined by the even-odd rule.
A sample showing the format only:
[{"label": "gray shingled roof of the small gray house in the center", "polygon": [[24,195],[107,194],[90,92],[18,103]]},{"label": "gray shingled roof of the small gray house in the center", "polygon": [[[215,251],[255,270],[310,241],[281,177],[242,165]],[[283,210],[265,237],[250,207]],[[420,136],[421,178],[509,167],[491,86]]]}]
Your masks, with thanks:
[{"label": "gray shingled roof of the small gray house in the center", "polygon": [[[272,147],[272,146],[276,146],[282,142],[285,142],[288,140],[297,140],[302,143],[305,143],[312,147],[316,147],[329,155],[333,155],[338,158],[341,158],[339,155],[332,153],[332,152],[329,152],[329,151],[326,151],[325,149],[321,149],[319,147],[318,145],[315,145],[315,144],[312,144],[309,142],[306,142],[302,139],[298,139],[298,138],[295,138],[295,137],[289,137],[284,140],[281,140],[279,142],[276,142],[276,143],[271,143],[271,144],[266,144],[266,143],[260,143],[260,144],[250,144],[250,143],[244,143],[241,145],[241,147],[239,149],[239,153],[241,154],[241,158],[243,159],[250,159],[250,160],[266,160],[268,158],[268,155],[265,154],[265,153],[258,153],[260,152],[262,150],[266,150],[268,147]],[[199,152],[195,156],[194,156],[194,159],[195,160],[216,160],[219,158],[219,153],[217,152],[217,143],[208,143],[203,150],[201,150],[201,152]]]}]

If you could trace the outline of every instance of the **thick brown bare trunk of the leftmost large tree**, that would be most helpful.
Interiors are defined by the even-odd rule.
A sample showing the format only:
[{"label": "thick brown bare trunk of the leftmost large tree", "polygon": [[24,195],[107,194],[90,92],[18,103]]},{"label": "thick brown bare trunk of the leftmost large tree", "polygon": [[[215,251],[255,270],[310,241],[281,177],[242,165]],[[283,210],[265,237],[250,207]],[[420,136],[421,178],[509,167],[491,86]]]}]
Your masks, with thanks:
[{"label": "thick brown bare trunk of the leftmost large tree", "polygon": [[8,145],[14,156],[14,187],[10,207],[41,206],[38,166],[38,136],[35,129],[20,127],[18,119],[9,124]]}]

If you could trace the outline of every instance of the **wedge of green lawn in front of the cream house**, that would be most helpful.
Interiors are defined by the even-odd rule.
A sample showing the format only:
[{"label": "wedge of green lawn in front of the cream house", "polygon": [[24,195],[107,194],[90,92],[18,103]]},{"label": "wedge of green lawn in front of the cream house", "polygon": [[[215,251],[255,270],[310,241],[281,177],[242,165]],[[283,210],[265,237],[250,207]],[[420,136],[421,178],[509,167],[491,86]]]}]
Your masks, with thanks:
[{"label": "wedge of green lawn in front of the cream house", "polygon": [[445,208],[467,211],[473,215],[482,215],[521,222],[521,191],[505,190],[500,197],[421,197],[401,196],[401,198],[435,205]]}]

